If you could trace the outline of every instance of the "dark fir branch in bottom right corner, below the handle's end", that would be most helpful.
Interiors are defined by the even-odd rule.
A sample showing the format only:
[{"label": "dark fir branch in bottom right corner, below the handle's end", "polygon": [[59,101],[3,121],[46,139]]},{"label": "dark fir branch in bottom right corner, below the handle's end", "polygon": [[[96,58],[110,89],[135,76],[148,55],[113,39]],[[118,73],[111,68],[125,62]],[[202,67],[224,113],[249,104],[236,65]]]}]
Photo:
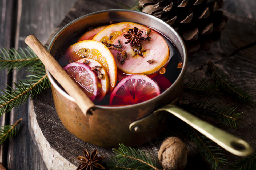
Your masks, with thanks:
[{"label": "dark fir branch in bottom right corner, below the handle's end", "polygon": [[256,169],[256,153],[248,158],[242,158],[235,165],[231,167],[231,170],[255,170]]}]

